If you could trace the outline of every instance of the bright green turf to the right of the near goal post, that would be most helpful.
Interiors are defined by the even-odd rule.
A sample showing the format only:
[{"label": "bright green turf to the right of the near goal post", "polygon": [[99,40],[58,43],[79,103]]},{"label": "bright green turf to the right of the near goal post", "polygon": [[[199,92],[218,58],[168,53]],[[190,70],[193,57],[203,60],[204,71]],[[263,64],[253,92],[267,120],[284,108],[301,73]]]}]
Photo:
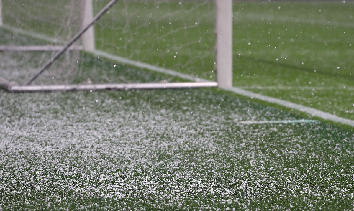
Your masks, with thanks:
[{"label": "bright green turf to the right of the near goal post", "polygon": [[234,85],[354,119],[353,8],[235,3]]}]

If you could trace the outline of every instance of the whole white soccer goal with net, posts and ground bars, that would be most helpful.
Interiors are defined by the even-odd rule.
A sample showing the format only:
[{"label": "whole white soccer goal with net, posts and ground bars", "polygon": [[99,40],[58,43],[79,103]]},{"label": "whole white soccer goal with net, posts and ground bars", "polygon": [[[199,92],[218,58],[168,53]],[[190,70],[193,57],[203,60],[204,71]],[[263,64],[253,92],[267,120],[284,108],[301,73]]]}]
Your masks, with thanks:
[{"label": "whole white soccer goal with net, posts and ground bars", "polygon": [[231,0],[0,0],[10,92],[232,86]]}]

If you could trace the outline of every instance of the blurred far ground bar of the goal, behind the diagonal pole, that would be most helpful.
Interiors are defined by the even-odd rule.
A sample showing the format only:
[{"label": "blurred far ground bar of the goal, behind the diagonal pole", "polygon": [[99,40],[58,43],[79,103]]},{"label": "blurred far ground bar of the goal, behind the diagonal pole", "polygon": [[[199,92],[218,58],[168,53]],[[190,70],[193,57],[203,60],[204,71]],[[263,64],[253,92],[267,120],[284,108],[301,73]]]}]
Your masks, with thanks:
[{"label": "blurred far ground bar of the goal, behind the diagonal pole", "polygon": [[[0,51],[59,51],[63,46],[0,46]],[[82,50],[82,46],[71,46],[69,50]]]}]

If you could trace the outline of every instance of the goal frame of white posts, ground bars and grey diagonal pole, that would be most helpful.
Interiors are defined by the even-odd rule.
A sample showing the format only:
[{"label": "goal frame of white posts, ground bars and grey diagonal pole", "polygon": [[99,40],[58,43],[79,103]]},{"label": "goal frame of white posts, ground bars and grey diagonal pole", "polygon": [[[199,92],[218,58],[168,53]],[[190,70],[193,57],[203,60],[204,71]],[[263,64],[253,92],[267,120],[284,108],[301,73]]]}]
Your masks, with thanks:
[{"label": "goal frame of white posts, ground bars and grey diagonal pole", "polygon": [[[92,0],[81,0],[82,1],[82,30],[70,40],[67,45],[60,47],[36,47],[28,46],[31,49],[27,49],[21,46],[4,47],[0,46],[0,50],[7,51],[22,51],[29,50],[33,51],[37,49],[41,51],[43,49],[58,51],[58,53],[51,58],[42,68],[39,70],[38,75],[40,75],[47,66],[56,60],[56,58],[70,48],[75,48],[72,46],[76,39],[81,39],[82,47],[76,49],[84,49],[95,53],[95,34],[93,30],[93,24],[99,18],[97,16],[93,17],[93,2]],[[116,2],[118,0],[112,0]],[[110,4],[108,3],[108,4]],[[111,5],[111,6],[112,6]],[[36,76],[25,85],[16,85],[12,82],[6,81],[4,78],[0,78],[0,87],[10,91],[10,92],[38,92],[38,91],[68,91],[68,90],[110,90],[110,89],[152,89],[152,88],[190,88],[190,87],[221,87],[230,88],[232,87],[232,0],[215,0],[216,6],[216,82],[179,82],[179,83],[135,83],[135,84],[77,84],[77,85],[49,85],[49,86],[34,86],[30,83],[35,80]],[[2,0],[0,0],[0,26],[4,24],[4,19],[2,17]],[[107,8],[108,10],[108,8]],[[101,11],[102,14],[105,11]],[[101,15],[102,15],[101,14]],[[96,19],[95,19],[96,18]],[[81,33],[81,34],[80,34]],[[37,75],[37,76],[38,76]]]}]

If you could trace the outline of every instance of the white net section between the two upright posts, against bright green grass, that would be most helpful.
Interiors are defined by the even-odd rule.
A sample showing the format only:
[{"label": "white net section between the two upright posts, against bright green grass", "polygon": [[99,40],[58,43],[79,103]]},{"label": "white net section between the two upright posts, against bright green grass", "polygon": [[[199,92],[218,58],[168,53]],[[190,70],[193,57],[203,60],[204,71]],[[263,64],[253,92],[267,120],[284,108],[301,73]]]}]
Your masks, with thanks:
[{"label": "white net section between the two upright posts, against bright green grass", "polygon": [[[95,2],[95,8],[102,5]],[[104,31],[96,36],[97,48],[193,75],[211,75],[214,25],[213,1],[122,0],[96,24],[96,30]]]}]

